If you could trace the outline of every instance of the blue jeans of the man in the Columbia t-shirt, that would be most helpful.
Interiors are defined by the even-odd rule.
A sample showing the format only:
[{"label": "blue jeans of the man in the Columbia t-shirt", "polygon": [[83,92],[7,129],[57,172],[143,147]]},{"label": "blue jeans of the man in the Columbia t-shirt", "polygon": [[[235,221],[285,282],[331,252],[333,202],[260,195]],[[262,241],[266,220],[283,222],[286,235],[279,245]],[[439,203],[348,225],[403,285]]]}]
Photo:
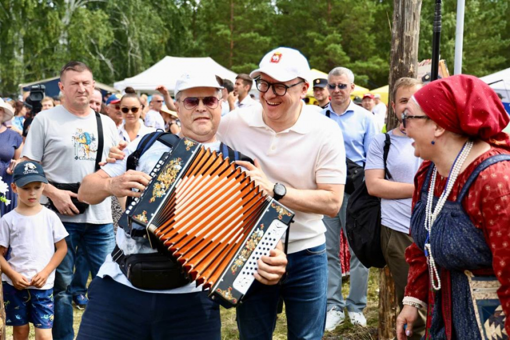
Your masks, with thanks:
[{"label": "blue jeans of the man in the Columbia t-shirt", "polygon": [[81,247],[92,277],[97,275],[106,256],[115,247],[113,224],[90,224],[63,222],[69,236],[65,238],[67,254],[55,273],[55,322],[53,324],[53,338],[55,340],[72,340],[72,295],[69,285],[73,277],[76,262],[76,249]]}]

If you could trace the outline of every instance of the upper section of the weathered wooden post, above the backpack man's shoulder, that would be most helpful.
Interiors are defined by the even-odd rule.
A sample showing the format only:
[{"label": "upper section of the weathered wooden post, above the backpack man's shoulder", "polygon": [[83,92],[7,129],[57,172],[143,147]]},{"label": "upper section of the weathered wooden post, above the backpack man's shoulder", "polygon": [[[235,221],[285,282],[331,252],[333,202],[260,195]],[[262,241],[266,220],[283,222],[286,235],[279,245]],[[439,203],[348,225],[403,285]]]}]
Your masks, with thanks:
[{"label": "upper section of the weathered wooden post, above the backpack man's shoulder", "polygon": [[401,77],[416,77],[418,71],[418,40],[422,0],[393,0],[393,25],[391,32],[388,131],[398,126],[391,108],[393,83]]}]

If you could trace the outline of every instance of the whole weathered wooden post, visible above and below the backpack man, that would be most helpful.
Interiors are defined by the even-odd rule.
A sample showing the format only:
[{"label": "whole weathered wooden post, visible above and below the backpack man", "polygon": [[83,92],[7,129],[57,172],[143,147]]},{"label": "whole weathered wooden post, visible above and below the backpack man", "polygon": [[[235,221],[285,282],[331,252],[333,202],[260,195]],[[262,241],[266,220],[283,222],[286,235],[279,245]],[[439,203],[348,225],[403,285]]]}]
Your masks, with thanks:
[{"label": "whole weathered wooden post, visible above and below the backpack man", "polygon": [[[416,77],[418,70],[418,40],[422,0],[394,0],[391,37],[389,100],[387,130],[399,125],[391,108],[393,83],[401,77]],[[396,336],[399,308],[395,284],[388,267],[379,271],[379,327],[380,340]]]}]

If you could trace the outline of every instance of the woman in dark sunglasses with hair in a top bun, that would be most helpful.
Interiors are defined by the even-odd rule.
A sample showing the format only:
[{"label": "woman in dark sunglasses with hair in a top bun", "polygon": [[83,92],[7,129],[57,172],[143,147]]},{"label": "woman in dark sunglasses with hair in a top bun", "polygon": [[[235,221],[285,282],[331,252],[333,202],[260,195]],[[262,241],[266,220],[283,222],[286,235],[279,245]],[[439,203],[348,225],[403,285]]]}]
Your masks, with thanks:
[{"label": "woman in dark sunglasses with hair in a top bun", "polygon": [[120,139],[127,143],[135,140],[138,137],[145,136],[151,132],[156,131],[154,127],[148,127],[140,120],[142,113],[142,103],[140,98],[136,95],[133,88],[127,87],[124,90],[125,94],[120,99],[120,112],[124,124],[119,128]]}]

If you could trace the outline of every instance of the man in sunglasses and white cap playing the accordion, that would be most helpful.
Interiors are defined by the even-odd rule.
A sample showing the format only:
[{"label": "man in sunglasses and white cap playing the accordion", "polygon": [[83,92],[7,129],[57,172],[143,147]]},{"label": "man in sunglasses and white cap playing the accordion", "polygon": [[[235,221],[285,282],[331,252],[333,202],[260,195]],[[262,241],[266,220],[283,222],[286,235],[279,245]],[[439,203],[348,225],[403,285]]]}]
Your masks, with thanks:
[{"label": "man in sunglasses and white cap playing the accordion", "polygon": [[[217,151],[220,142],[215,135],[221,117],[221,88],[211,73],[183,74],[175,85],[182,135]],[[87,176],[79,197],[93,203],[111,195],[138,197],[140,194],[132,188],[144,189],[150,179],[148,173],[163,152],[170,151],[169,146],[156,141],[141,155],[136,171],[126,172],[127,158],[139,142],[136,139],[127,146],[122,161],[107,164]],[[177,284],[173,289],[147,290],[135,287],[124,275],[120,269],[122,256],[156,252],[150,247],[144,229],[136,228],[130,233],[118,229],[115,260],[108,256],[90,284],[92,298],[77,339],[219,340],[219,305],[207,297],[208,291],[197,288],[195,282]],[[142,232],[145,238],[137,236],[137,232]],[[276,284],[285,272],[287,260],[281,249],[275,249],[271,250],[271,256],[261,257],[258,264],[255,278],[264,284]]]}]

